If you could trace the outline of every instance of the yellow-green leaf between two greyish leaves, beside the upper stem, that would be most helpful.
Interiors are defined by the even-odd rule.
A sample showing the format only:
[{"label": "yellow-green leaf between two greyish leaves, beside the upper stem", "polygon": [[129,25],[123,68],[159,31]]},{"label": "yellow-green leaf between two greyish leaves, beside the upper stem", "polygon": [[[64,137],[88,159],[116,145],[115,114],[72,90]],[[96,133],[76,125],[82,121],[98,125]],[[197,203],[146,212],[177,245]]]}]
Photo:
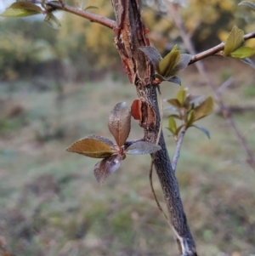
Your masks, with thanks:
[{"label": "yellow-green leaf between two greyish leaves, beside the upper stem", "polygon": [[174,68],[178,64],[178,61],[180,60],[180,52],[178,50],[177,45],[173,47],[171,52],[167,54],[159,63],[158,67],[156,68],[156,71],[162,76],[162,77],[173,77],[177,71],[174,71]]}]

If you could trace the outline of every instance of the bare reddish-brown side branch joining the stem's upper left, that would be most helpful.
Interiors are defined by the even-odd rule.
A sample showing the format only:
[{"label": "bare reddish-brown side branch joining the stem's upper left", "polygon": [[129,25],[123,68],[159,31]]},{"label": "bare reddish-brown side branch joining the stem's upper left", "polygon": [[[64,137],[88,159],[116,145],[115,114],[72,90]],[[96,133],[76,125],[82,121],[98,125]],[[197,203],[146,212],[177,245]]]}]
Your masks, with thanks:
[{"label": "bare reddish-brown side branch joining the stem's upper left", "polygon": [[116,28],[116,21],[115,20],[110,20],[110,19],[107,19],[105,17],[99,16],[97,14],[92,14],[92,13],[89,13],[87,11],[77,9],[77,8],[73,8],[73,7],[68,6],[68,5],[61,5],[60,3],[57,3],[55,1],[48,2],[47,5],[49,7],[51,7],[52,9],[54,9],[54,10],[62,10],[62,11],[65,11],[67,13],[76,14],[77,16],[81,16],[82,18],[90,20],[91,22],[99,23],[99,24],[101,24],[103,26],[106,26],[108,28],[111,28],[111,29]]}]

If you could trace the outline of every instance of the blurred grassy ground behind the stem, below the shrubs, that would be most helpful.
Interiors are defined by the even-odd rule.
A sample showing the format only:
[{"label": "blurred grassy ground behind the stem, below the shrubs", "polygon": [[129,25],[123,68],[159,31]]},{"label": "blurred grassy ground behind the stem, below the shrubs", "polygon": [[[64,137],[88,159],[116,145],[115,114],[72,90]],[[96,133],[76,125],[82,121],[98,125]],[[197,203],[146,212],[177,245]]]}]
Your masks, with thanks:
[{"label": "blurred grassy ground behind the stem, below the shrubs", "polygon": [[[228,65],[213,79],[220,83],[235,75],[224,99],[254,105],[254,75],[241,68]],[[183,81],[191,94],[210,94],[192,68]],[[0,85],[0,243],[19,256],[178,255],[150,191],[150,156],[128,156],[99,186],[93,174],[97,161],[65,152],[88,134],[111,138],[108,113],[117,102],[130,105],[136,99],[133,86],[105,77],[63,87],[49,83],[39,91],[31,82]],[[168,99],[178,86],[169,83],[161,90]],[[217,106],[200,122],[212,139],[195,129],[184,138],[177,170],[184,208],[200,255],[252,255],[255,174],[216,111]],[[235,115],[242,133],[254,119],[254,111]],[[173,138],[164,133],[173,157]],[[130,139],[141,136],[133,122]],[[246,138],[255,152],[254,130]],[[156,175],[154,180],[163,205]]]}]

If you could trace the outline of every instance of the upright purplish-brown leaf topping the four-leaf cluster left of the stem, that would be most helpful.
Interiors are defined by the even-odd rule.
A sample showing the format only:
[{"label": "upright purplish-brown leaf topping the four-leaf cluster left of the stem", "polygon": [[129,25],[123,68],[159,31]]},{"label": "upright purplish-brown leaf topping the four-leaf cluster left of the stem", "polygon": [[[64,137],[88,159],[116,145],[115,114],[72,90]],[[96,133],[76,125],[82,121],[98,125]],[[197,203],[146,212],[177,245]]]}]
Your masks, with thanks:
[{"label": "upright purplish-brown leaf topping the four-leaf cluster left of the stem", "polygon": [[119,147],[126,142],[131,128],[131,113],[126,102],[116,104],[110,112],[108,127]]}]

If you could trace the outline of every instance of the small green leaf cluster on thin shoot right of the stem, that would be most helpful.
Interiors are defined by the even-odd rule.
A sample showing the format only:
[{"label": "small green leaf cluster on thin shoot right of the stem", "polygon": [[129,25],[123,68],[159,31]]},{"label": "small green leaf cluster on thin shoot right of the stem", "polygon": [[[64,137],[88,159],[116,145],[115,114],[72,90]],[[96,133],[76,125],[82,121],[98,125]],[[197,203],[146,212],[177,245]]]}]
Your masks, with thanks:
[{"label": "small green leaf cluster on thin shoot right of the stem", "polygon": [[[175,139],[178,138],[181,128],[187,129],[190,127],[200,129],[210,138],[210,134],[206,128],[194,124],[201,118],[210,115],[213,111],[212,97],[208,97],[206,100],[202,99],[203,97],[201,95],[188,94],[187,90],[181,87],[175,98],[167,100],[171,105],[167,109],[175,112],[168,116],[167,129],[173,134]],[[179,126],[177,125],[176,119],[182,121]]]}]

